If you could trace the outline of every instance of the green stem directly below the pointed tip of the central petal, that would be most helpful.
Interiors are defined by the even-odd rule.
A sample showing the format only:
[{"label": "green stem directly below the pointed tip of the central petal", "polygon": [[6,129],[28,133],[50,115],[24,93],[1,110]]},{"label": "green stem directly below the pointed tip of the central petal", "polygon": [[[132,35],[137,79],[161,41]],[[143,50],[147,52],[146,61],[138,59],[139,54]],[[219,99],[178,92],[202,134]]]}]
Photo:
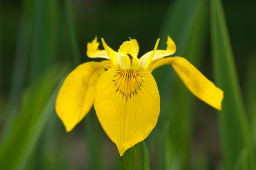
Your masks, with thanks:
[{"label": "green stem directly below the pointed tip of the central petal", "polygon": [[150,170],[145,141],[137,143],[120,156],[121,170]]}]

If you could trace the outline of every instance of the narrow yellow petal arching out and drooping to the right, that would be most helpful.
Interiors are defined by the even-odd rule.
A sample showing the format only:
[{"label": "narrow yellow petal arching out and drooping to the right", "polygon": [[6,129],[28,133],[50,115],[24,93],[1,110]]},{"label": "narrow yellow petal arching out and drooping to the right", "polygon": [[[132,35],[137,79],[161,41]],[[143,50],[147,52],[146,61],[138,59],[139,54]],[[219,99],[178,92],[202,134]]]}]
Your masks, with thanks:
[{"label": "narrow yellow petal arching out and drooping to the right", "polygon": [[172,65],[190,92],[215,109],[221,110],[223,91],[209,81],[185,58],[159,58],[151,63],[151,65],[148,67],[148,71],[152,72],[152,70],[155,68],[166,64]]}]

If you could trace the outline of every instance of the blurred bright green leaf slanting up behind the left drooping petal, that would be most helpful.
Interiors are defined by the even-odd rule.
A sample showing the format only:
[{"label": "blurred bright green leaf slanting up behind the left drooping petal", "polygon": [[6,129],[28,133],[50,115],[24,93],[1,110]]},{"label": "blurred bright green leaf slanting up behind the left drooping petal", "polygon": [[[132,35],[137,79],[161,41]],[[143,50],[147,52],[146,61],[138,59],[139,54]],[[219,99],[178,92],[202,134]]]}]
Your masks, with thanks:
[{"label": "blurred bright green leaf slanting up behind the left drooping petal", "polygon": [[[47,70],[26,90],[19,114],[15,117],[10,133],[0,146],[0,167],[21,170],[35,152],[38,140],[55,109],[55,99],[67,75],[67,66],[58,64]],[[58,86],[57,86],[58,84]]]}]

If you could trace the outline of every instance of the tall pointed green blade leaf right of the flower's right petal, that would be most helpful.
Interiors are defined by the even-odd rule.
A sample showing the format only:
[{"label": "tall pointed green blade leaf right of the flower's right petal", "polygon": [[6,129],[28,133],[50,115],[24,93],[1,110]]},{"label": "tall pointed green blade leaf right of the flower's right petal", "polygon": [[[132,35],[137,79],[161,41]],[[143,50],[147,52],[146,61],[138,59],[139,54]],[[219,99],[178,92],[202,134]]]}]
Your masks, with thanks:
[{"label": "tall pointed green blade leaf right of the flower's right petal", "polygon": [[216,85],[224,91],[218,112],[222,153],[227,170],[233,170],[243,148],[248,149],[248,168],[256,169],[252,136],[245,115],[236,66],[221,0],[211,0],[211,40]]}]

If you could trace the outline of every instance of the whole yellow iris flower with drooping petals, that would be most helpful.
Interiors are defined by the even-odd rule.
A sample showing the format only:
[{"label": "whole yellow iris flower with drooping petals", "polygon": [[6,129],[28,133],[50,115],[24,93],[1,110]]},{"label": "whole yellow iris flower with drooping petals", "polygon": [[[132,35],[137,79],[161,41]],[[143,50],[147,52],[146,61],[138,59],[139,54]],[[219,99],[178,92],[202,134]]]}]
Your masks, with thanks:
[{"label": "whole yellow iris flower with drooping petals", "polygon": [[173,66],[196,97],[221,110],[223,91],[185,58],[170,57],[176,46],[169,36],[166,50],[157,50],[158,39],[154,50],[140,59],[135,39],[122,43],[118,52],[103,38],[102,43],[105,50],[98,49],[97,37],[88,43],[87,56],[108,60],[79,65],[67,76],[58,93],[55,108],[67,132],[84,118],[94,103],[100,124],[122,156],[125,150],[147,138],[157,124],[160,96],[151,72],[166,64]]}]

